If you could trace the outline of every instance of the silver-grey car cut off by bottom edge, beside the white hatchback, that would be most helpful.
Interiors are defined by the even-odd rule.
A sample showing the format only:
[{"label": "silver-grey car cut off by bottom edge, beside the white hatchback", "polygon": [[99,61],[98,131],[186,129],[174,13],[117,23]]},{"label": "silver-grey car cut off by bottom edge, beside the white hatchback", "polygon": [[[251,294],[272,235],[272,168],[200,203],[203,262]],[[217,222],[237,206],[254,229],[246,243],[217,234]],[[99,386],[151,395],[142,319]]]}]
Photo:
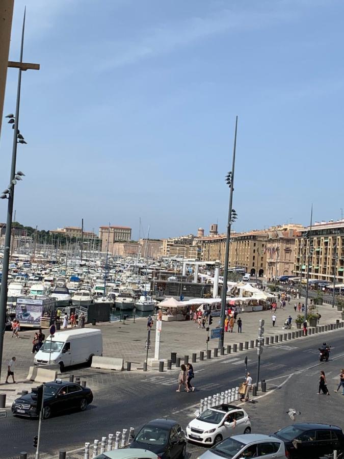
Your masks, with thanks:
[{"label": "silver-grey car cut off by bottom edge, beside the white hatchback", "polygon": [[248,435],[233,435],[217,443],[199,456],[199,459],[286,459],[284,443],[278,438],[258,433]]}]

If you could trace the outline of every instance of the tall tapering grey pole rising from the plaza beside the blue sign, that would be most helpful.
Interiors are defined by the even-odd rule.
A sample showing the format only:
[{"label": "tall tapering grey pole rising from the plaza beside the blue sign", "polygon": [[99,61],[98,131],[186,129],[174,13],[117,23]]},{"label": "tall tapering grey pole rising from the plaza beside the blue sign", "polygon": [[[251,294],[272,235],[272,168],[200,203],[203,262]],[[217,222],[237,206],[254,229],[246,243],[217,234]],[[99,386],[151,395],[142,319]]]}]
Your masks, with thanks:
[{"label": "tall tapering grey pole rising from the plaza beside the blue sign", "polygon": [[235,132],[234,132],[234,146],[233,146],[233,160],[232,160],[232,172],[230,182],[230,194],[229,194],[229,207],[228,207],[228,221],[227,221],[227,237],[226,237],[226,248],[225,248],[225,266],[223,272],[223,287],[222,287],[222,298],[221,298],[221,315],[220,315],[220,338],[219,338],[219,349],[222,349],[225,339],[225,316],[226,316],[226,298],[227,298],[227,277],[228,277],[228,259],[229,259],[229,240],[230,240],[230,227],[232,219],[232,201],[233,201],[233,184],[234,184],[234,166],[235,166],[235,149],[236,149],[236,131],[237,131],[237,116],[235,118]]}]

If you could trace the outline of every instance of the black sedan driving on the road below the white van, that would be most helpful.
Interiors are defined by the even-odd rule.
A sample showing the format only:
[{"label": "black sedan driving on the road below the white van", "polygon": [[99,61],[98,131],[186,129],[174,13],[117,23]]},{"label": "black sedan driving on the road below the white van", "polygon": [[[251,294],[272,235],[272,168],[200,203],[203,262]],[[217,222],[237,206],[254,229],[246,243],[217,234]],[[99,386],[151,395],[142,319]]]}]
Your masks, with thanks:
[{"label": "black sedan driving on the road below the white van", "polygon": [[[92,403],[93,394],[88,387],[82,387],[75,382],[62,381],[57,379],[53,382],[44,384],[43,417],[50,418],[52,414],[67,410],[85,411],[87,405]],[[14,400],[12,413],[15,416],[25,416],[29,418],[38,417],[37,412],[37,392],[22,395]]]}]

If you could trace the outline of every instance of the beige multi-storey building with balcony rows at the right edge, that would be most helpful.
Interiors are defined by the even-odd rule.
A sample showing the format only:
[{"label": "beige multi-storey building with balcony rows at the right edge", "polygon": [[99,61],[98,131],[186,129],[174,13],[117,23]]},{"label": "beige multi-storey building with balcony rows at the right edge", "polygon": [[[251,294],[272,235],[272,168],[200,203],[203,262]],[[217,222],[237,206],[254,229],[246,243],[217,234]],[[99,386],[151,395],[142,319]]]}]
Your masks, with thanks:
[{"label": "beige multi-storey building with balcony rows at the right edge", "polygon": [[295,240],[294,274],[306,278],[310,249],[309,278],[344,283],[344,220],[315,222],[309,244],[309,227]]}]

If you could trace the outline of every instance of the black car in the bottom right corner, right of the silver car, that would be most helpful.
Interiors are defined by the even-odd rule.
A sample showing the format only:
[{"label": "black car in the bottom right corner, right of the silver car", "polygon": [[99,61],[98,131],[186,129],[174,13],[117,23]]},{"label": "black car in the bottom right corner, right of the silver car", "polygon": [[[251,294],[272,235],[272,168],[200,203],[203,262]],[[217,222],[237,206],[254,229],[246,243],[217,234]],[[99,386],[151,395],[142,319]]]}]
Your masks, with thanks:
[{"label": "black car in the bottom right corner, right of the silver car", "polygon": [[273,434],[281,439],[290,459],[315,459],[325,454],[344,452],[344,434],[340,427],[329,424],[297,423]]}]

